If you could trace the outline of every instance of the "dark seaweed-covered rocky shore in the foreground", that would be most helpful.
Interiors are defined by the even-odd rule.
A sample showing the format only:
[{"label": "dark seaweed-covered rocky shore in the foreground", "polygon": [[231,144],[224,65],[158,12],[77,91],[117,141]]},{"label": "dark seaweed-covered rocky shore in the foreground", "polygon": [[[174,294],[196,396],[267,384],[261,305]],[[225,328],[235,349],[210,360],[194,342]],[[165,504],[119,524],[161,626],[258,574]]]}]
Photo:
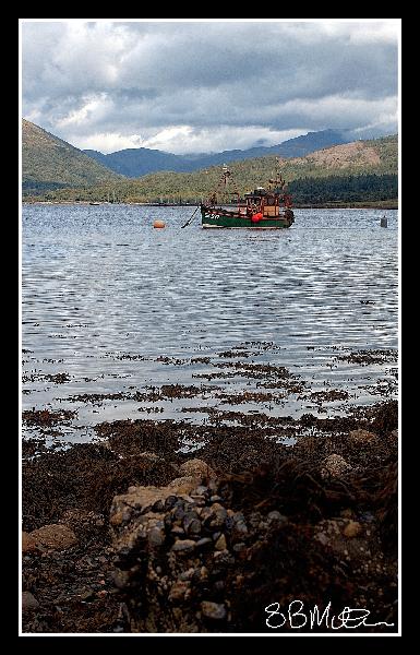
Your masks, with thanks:
[{"label": "dark seaweed-covered rocky shore in the foreground", "polygon": [[101,424],[61,452],[24,442],[23,631],[290,634],[265,608],[300,599],[396,632],[397,415],[307,414],[292,448],[257,421],[194,426],[190,454],[192,426],[171,420]]}]

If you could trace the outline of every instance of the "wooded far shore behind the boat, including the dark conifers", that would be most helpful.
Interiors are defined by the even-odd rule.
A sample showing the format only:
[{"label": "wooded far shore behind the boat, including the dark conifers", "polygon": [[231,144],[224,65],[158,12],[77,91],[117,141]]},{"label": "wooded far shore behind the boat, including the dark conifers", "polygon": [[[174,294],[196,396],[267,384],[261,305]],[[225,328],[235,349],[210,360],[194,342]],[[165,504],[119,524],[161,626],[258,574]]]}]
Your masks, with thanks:
[{"label": "wooded far shore behind the boat, including the dark conifers", "polygon": [[[305,157],[280,159],[280,168],[296,204],[386,201],[397,198],[397,145],[396,135],[357,141]],[[274,155],[233,162],[229,169],[241,195],[267,184],[278,170]],[[137,179],[51,189],[41,196],[28,194],[27,200],[104,202],[115,194],[117,202],[179,202],[181,198],[183,202],[196,203],[214,192],[220,177],[219,166],[193,172],[159,171]],[[231,184],[227,193],[218,196],[219,202],[233,199],[233,191]]]}]

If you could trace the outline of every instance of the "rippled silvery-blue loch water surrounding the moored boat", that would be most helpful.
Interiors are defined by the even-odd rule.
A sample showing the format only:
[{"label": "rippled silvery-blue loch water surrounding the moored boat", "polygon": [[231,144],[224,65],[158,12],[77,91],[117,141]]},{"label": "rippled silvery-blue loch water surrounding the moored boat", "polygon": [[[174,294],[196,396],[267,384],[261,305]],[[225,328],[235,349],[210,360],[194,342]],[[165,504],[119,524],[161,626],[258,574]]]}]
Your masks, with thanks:
[{"label": "rippled silvery-blue loch water surrounding the moored boat", "polygon": [[[220,361],[220,352],[245,342],[255,342],[249,360],[286,366],[312,390],[327,380],[355,402],[381,400],[377,385],[395,381],[396,364],[336,356],[337,348],[397,347],[397,212],[386,212],[387,229],[376,210],[296,210],[285,230],[203,230],[199,219],[181,229],[192,211],[24,206],[23,407],[77,409],[79,428],[139,418],[140,404],[129,400],[86,406],[67,398],[208,383],[196,378],[208,364],[189,359]],[[155,218],[167,228],[153,229]],[[156,361],[161,356],[182,361]],[[46,378],[57,373],[68,381]],[[194,402],[203,404],[183,405]],[[293,412],[304,409],[291,402]],[[179,403],[159,406],[159,418],[184,418]]]}]

